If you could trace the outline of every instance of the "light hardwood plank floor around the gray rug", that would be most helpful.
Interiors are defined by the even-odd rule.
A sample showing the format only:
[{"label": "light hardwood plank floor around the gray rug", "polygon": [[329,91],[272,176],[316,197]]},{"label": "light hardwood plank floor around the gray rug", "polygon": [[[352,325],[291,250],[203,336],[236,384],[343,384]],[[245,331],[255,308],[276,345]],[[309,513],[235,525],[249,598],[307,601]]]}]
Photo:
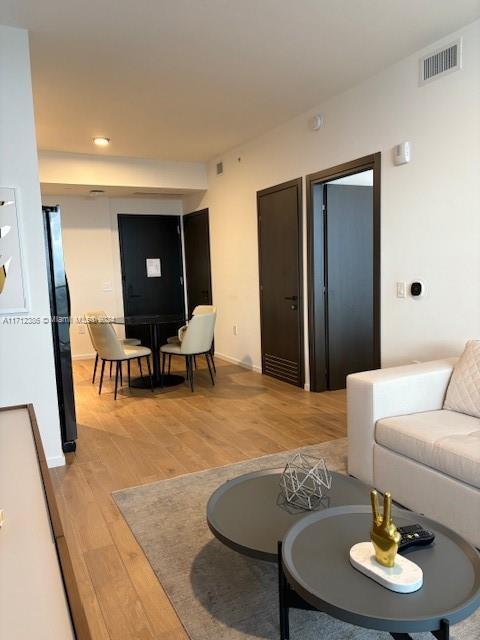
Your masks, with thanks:
[{"label": "light hardwood plank floor around the gray rug", "polygon": [[[186,640],[183,627],[111,492],[342,437],[345,393],[307,393],[217,359],[196,390],[99,397],[93,361],[74,365],[77,452],[52,470],[94,640]],[[179,366],[181,363],[179,362]]]}]

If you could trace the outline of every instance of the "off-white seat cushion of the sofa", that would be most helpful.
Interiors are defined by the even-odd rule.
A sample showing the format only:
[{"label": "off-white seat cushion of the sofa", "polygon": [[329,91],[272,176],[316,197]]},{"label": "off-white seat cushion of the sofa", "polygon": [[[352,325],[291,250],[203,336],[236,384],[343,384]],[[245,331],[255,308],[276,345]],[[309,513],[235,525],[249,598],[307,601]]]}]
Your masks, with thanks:
[{"label": "off-white seat cushion of the sofa", "polygon": [[480,419],[427,411],[379,420],[378,444],[480,488]]}]

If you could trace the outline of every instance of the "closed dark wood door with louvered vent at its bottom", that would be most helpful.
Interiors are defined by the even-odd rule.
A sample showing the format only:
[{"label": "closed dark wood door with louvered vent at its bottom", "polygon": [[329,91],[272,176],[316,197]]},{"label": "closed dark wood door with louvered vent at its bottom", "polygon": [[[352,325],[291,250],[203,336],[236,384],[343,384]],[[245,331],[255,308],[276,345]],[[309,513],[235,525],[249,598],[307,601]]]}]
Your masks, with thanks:
[{"label": "closed dark wood door with louvered vent at its bottom", "polygon": [[263,373],[303,386],[302,181],[259,191]]}]

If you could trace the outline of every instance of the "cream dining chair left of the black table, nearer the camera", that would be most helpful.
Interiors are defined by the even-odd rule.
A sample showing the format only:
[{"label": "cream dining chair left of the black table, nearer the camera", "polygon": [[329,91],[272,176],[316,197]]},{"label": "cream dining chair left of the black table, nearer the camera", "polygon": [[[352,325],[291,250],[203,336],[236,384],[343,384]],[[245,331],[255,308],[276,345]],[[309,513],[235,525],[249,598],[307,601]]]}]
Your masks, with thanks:
[{"label": "cream dining chair left of the black table, nearer the camera", "polygon": [[105,371],[105,363],[116,363],[115,367],[115,393],[114,398],[117,399],[118,391],[118,379],[120,377],[120,385],[123,385],[122,377],[122,362],[127,363],[128,370],[128,386],[130,386],[130,363],[132,360],[137,360],[140,368],[140,375],[143,377],[142,361],[141,358],[145,358],[147,361],[148,375],[150,377],[150,386],[153,391],[153,379],[152,370],[150,366],[151,350],[148,347],[142,347],[142,345],[128,345],[122,344],[119,337],[115,333],[114,328],[110,322],[102,322],[101,318],[87,319],[87,325],[92,338],[92,343],[97,351],[99,358],[102,361],[102,368],[100,372],[100,384],[98,387],[98,394],[102,393],[103,374]]}]

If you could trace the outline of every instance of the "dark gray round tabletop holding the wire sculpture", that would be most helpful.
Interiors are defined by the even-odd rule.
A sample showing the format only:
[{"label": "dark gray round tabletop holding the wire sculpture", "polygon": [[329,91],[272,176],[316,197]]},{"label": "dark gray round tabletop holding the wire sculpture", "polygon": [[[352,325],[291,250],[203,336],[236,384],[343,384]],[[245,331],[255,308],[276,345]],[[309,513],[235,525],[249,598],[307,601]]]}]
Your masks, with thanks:
[{"label": "dark gray round tabletop holding the wire sculpture", "polygon": [[[210,530],[224,544],[244,555],[277,561],[277,543],[309,511],[292,510],[280,489],[283,469],[256,471],[229,480],[207,506]],[[369,487],[355,478],[332,473],[332,488],[320,510],[346,504],[368,504]]]}]

